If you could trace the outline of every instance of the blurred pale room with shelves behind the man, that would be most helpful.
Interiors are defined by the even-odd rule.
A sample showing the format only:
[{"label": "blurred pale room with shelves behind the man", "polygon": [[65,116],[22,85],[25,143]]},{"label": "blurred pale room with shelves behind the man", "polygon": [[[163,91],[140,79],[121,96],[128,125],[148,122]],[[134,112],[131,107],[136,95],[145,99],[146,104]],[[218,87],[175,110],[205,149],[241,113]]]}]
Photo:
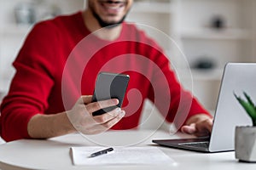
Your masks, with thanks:
[{"label": "blurred pale room with shelves behind the man", "polygon": [[[58,14],[72,14],[85,3],[0,0],[0,101],[15,74],[12,62],[32,26]],[[213,113],[224,65],[256,61],[255,9],[255,0],[135,0],[127,20],[153,26],[177,42],[189,61],[195,96]],[[162,45],[182,68],[180,55]]]}]

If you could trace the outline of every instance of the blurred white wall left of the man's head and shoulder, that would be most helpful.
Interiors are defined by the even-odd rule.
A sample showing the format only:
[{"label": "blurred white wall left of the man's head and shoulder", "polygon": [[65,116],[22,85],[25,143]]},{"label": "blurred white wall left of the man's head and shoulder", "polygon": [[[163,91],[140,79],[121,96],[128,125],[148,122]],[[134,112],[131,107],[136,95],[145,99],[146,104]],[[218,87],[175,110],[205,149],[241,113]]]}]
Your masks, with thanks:
[{"label": "blurred white wall left of the man's head and shoulder", "polygon": [[27,3],[32,3],[36,20],[49,17],[52,11],[70,14],[84,8],[84,0],[0,0],[0,101],[8,92],[9,83],[15,74],[12,63],[32,27],[18,24],[15,18],[15,8]]}]

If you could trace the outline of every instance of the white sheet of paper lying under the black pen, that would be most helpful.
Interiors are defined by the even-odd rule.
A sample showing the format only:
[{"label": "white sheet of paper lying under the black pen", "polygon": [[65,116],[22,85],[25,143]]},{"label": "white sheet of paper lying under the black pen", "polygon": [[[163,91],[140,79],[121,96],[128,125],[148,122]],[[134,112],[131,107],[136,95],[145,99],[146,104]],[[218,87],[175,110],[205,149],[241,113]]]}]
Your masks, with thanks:
[{"label": "white sheet of paper lying under the black pen", "polygon": [[174,161],[156,147],[122,147],[102,156],[90,154],[105,150],[104,147],[72,147],[73,165],[119,165],[119,164],[172,164]]}]

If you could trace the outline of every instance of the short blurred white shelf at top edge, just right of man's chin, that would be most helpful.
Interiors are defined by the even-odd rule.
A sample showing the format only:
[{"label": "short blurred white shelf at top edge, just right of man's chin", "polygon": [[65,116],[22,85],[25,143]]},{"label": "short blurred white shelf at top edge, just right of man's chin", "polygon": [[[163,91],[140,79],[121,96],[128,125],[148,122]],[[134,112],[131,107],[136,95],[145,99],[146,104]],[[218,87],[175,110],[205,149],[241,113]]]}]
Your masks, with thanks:
[{"label": "short blurred white shelf at top edge, just right of man's chin", "polygon": [[171,1],[154,2],[154,1],[137,1],[133,4],[131,12],[135,13],[159,13],[171,14],[174,7]]}]

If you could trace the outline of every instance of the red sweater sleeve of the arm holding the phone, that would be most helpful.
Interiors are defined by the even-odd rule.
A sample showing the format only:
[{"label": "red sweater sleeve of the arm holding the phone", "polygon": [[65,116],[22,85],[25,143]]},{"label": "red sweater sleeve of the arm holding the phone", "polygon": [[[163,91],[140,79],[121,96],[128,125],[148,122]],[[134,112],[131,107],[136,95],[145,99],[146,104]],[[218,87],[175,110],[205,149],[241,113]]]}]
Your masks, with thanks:
[{"label": "red sweater sleeve of the arm holding the phone", "polygon": [[49,45],[56,42],[54,30],[45,23],[35,26],[15,59],[15,77],[1,105],[1,136],[6,141],[30,138],[27,123],[48,107],[48,95],[54,84],[54,68],[49,64],[55,62],[54,46]]}]

